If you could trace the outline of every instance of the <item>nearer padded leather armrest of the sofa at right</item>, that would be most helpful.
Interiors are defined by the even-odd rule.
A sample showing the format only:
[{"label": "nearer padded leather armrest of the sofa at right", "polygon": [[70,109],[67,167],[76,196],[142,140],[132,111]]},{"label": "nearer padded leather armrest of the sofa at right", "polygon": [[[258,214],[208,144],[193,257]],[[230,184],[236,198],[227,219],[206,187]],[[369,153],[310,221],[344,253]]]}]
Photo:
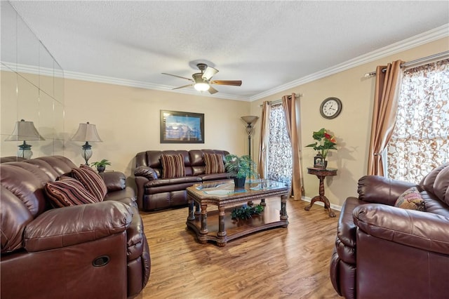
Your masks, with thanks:
[{"label": "nearer padded leather armrest of the sofa at right", "polygon": [[359,229],[373,237],[449,254],[449,220],[442,215],[382,204],[363,204],[352,215]]}]

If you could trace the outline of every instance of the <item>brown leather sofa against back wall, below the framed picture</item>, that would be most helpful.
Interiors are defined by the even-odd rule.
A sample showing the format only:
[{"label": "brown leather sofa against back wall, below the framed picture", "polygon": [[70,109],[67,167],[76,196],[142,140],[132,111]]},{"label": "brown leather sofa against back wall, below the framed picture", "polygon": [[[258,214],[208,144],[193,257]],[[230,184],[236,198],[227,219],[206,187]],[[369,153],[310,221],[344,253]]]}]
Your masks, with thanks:
[{"label": "brown leather sofa against back wall, below the framed picture", "polygon": [[[135,155],[135,185],[138,190],[138,206],[143,211],[154,211],[176,206],[187,206],[186,188],[208,180],[230,178],[229,173],[205,173],[204,153],[221,154],[224,150],[165,150],[139,152]],[[161,156],[182,154],[185,177],[161,178]]]}]

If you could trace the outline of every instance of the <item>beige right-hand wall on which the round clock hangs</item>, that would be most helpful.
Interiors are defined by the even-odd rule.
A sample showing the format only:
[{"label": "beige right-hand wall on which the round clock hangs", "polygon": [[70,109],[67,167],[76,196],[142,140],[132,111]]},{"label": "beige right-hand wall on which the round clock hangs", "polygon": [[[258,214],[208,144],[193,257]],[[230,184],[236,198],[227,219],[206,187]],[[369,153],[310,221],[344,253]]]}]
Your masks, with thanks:
[{"label": "beige right-hand wall on which the round clock hangs", "polygon": [[[337,137],[339,148],[337,151],[331,151],[328,156],[328,167],[338,168],[338,171],[337,176],[326,178],[326,197],[334,206],[342,206],[344,199],[356,196],[357,180],[366,174],[368,165],[375,77],[365,79],[363,74],[375,71],[377,65],[384,65],[394,60],[401,59],[407,62],[448,50],[449,39],[440,39],[251,102],[250,111],[251,114],[260,117],[262,111],[260,104],[264,100],[278,100],[282,95],[293,92],[303,94],[299,100],[299,107],[305,196],[311,198],[318,194],[319,181],[314,175],[307,174],[307,166],[313,165],[316,153],[309,147],[304,148],[304,145],[314,142],[311,138],[313,131],[326,128]],[[342,113],[336,119],[323,119],[319,113],[321,102],[328,97],[340,98],[343,102]],[[256,125],[256,145],[260,140],[259,125],[259,123]],[[257,154],[258,150],[256,157]]]}]

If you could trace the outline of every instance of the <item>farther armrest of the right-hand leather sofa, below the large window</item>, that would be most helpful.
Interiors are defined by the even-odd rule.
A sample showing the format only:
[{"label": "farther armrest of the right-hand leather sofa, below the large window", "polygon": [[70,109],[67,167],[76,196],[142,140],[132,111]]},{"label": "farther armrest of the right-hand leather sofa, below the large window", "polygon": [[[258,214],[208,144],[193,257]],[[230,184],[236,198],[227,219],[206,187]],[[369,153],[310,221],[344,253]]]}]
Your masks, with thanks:
[{"label": "farther armrest of the right-hand leather sofa, below the large window", "polygon": [[418,187],[418,185],[379,175],[365,175],[358,180],[358,199],[394,206],[396,199],[410,187]]}]

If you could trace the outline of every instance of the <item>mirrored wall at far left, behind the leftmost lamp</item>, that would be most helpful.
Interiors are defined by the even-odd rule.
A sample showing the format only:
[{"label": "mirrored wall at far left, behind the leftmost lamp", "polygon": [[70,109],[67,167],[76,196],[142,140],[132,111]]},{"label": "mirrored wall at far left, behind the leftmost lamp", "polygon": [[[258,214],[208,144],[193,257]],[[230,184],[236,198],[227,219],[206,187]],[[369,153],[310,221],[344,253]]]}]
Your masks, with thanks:
[{"label": "mirrored wall at far left, behind the leftmost lamp", "polygon": [[32,157],[64,155],[64,72],[8,1],[1,11],[0,154],[17,154],[25,137],[11,138],[21,119],[45,140],[26,140]]}]

